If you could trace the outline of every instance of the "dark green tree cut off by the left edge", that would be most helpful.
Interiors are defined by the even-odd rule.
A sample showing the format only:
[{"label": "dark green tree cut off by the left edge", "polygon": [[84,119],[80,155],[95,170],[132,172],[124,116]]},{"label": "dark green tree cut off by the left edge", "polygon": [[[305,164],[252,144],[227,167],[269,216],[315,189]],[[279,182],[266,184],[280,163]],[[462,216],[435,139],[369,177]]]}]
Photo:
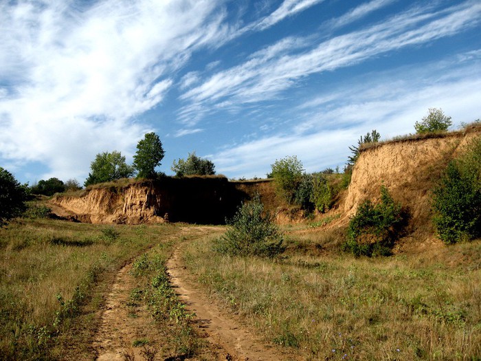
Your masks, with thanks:
[{"label": "dark green tree cut off by the left edge", "polygon": [[0,167],[0,227],[26,209],[26,188],[10,172]]}]

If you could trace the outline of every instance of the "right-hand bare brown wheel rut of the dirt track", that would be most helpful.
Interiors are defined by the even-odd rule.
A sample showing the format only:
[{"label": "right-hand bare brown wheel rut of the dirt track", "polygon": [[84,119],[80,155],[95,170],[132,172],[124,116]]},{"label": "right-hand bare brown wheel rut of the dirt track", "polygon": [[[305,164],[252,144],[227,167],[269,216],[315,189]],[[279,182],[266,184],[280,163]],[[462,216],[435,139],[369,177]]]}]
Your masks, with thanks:
[{"label": "right-hand bare brown wheel rut of the dirt track", "polygon": [[220,309],[188,280],[186,267],[181,263],[181,245],[167,262],[170,282],[189,311],[196,314],[197,324],[207,339],[217,347],[227,350],[222,360],[296,360],[281,353],[276,347],[260,342],[254,334],[241,325],[233,315]]}]

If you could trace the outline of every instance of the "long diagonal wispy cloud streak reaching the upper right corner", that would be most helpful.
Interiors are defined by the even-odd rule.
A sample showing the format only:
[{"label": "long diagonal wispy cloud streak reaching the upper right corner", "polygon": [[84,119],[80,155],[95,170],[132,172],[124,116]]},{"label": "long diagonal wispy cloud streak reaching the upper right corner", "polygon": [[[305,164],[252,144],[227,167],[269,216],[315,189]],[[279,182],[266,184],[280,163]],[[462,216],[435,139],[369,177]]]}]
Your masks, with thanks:
[{"label": "long diagonal wispy cloud streak reaching the upper right corner", "polygon": [[403,47],[451,36],[480,23],[480,19],[481,4],[467,1],[437,12],[425,8],[409,10],[369,28],[336,36],[307,52],[295,46],[304,41],[284,39],[242,65],[210,76],[181,98],[201,103],[203,107],[226,100],[235,105],[274,99],[310,74],[355,65]]}]

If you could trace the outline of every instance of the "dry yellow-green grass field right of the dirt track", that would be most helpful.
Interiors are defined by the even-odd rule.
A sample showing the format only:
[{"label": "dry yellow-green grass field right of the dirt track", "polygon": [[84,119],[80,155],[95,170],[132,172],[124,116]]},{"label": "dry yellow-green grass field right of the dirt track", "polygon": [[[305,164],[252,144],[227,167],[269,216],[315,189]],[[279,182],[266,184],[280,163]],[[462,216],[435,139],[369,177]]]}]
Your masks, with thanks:
[{"label": "dry yellow-green grass field right of the dirt track", "polygon": [[[291,239],[306,250],[305,239]],[[318,244],[333,242],[327,237]],[[434,254],[355,259],[333,252],[282,259],[212,253],[191,243],[185,261],[199,283],[268,342],[306,360],[478,360],[481,242]],[[315,254],[315,256],[313,256]]]}]

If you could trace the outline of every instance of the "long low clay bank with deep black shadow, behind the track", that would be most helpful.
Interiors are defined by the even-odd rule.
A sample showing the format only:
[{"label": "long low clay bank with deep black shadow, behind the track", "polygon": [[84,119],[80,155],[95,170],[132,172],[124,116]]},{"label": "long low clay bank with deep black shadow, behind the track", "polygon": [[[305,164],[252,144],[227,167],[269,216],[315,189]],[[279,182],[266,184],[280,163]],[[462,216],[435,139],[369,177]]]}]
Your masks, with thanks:
[{"label": "long low clay bank with deep black shadow, behind the track", "polygon": [[89,223],[225,223],[236,208],[256,190],[270,197],[270,182],[228,182],[225,177],[165,177],[156,181],[131,182],[126,186],[92,188],[80,196],[61,195],[54,206],[71,219]]}]

